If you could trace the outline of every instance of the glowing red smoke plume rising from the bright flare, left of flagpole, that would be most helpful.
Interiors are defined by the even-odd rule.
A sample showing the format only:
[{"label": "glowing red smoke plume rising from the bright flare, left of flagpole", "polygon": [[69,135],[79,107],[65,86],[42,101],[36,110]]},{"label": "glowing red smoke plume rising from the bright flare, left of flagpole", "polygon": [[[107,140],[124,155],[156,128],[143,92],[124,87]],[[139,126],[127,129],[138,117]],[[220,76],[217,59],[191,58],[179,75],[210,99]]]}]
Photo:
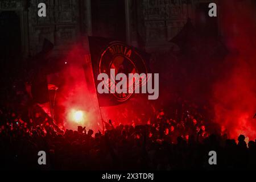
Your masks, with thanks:
[{"label": "glowing red smoke plume rising from the bright flare, left of flagpole", "polygon": [[[98,129],[100,122],[96,94],[92,87],[92,70],[84,66],[90,65],[89,55],[81,44],[69,49],[65,59],[61,60],[60,71],[48,76],[48,83],[59,87],[56,94],[56,121],[65,129]],[[82,113],[77,122],[76,113]]]}]

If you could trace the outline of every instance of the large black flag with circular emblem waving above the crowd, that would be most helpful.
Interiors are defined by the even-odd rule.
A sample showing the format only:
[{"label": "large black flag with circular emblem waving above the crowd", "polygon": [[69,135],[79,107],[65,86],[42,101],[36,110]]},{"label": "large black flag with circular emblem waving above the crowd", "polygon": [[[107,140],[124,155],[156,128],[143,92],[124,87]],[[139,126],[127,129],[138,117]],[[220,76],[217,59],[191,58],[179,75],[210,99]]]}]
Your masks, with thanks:
[{"label": "large black flag with circular emblem waving above the crowd", "polygon": [[[148,73],[148,61],[150,55],[137,48],[128,46],[123,42],[113,39],[89,36],[90,56],[92,60],[94,82],[97,86],[101,82],[97,80],[100,73],[106,73],[110,78],[110,69],[118,73]],[[115,82],[116,84],[117,82]],[[109,83],[106,83],[109,84]],[[113,85],[110,84],[110,88]],[[108,87],[107,87],[108,88]],[[98,93],[98,102],[100,106],[113,106],[122,104],[129,100],[132,93]]]}]

